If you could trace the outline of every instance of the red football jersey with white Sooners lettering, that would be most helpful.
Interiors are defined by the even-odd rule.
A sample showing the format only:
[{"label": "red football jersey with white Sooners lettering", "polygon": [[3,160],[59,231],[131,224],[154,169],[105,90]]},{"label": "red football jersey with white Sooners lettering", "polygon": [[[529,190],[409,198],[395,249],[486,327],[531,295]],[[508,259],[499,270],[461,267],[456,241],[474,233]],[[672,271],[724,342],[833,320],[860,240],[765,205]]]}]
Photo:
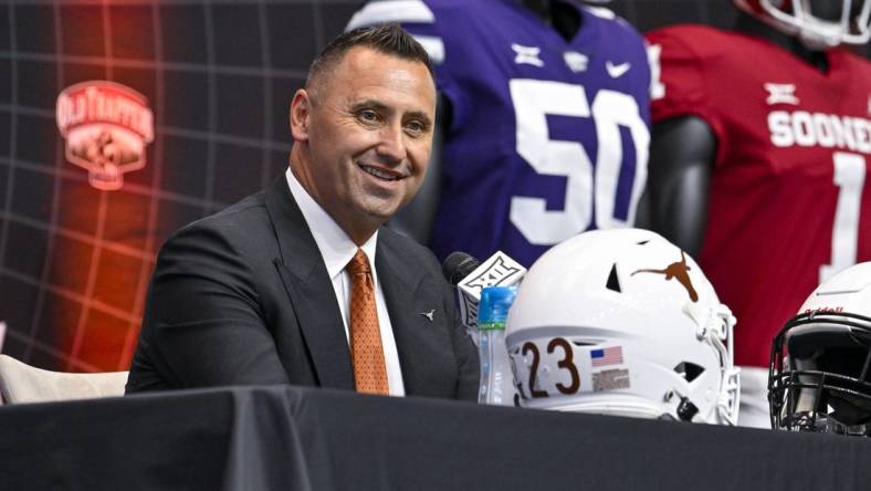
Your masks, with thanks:
[{"label": "red football jersey with white Sooners lettering", "polygon": [[822,73],[759,38],[701,25],[648,34],[653,121],[704,119],[717,139],[700,263],[738,323],[735,362],[772,339],[822,281],[871,260],[871,63]]}]

